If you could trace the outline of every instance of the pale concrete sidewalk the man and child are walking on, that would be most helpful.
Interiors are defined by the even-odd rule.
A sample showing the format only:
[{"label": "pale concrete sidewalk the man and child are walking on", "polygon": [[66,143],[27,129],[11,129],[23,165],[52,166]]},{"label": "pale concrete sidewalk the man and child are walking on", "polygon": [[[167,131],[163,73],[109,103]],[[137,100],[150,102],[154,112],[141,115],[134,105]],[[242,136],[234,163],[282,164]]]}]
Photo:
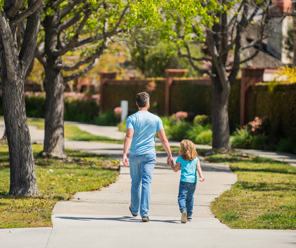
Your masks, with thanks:
[{"label": "pale concrete sidewalk the man and child are walking on", "polygon": [[[100,128],[87,125],[87,131],[96,135],[101,135],[98,131]],[[32,142],[40,142],[43,139],[43,130],[30,127],[30,131]],[[108,133],[111,136],[113,132],[112,128],[104,127],[103,136],[109,136]],[[124,136],[124,133],[122,135]],[[66,140],[65,145],[68,148],[104,154],[116,159],[121,158],[123,150],[122,144]],[[178,154],[175,154],[175,161],[177,156]],[[53,210],[52,228],[0,230],[0,247],[296,247],[295,230],[230,229],[215,218],[210,211],[210,202],[229,189],[236,182],[237,176],[230,171],[227,164],[207,163],[202,157],[199,158],[205,182],[198,184],[194,195],[192,222],[180,223],[177,202],[180,174],[167,167],[166,154],[158,152],[152,180],[150,222],[141,222],[139,216],[131,217],[128,210],[129,170],[120,166],[118,181],[110,187],[100,191],[79,192],[72,200],[58,202]]]}]

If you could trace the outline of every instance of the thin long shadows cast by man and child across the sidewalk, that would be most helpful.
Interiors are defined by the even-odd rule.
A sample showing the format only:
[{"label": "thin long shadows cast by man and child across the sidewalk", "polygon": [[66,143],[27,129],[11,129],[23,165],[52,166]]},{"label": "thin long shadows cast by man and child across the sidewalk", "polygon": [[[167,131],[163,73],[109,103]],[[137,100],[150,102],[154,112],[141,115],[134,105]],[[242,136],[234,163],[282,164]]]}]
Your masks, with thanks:
[{"label": "thin long shadows cast by man and child across the sidewalk", "polygon": [[[132,218],[130,216],[122,216],[122,217],[106,217],[106,218],[94,218],[94,217],[68,217],[68,216],[58,216],[55,218],[63,219],[63,220],[81,220],[81,221],[92,221],[92,220],[111,220],[111,221],[123,221],[123,222],[143,222],[141,219]],[[180,220],[150,220],[150,222],[165,222],[178,224]]]}]

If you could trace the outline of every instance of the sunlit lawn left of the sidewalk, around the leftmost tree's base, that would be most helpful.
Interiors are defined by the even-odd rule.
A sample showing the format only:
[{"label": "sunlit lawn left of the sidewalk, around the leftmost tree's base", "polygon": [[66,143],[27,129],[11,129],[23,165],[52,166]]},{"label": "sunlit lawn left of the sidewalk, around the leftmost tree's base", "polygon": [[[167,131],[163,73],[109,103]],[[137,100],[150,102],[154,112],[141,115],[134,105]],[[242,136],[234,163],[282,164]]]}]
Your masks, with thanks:
[{"label": "sunlit lawn left of the sidewalk, around the leftmost tree's base", "polygon": [[[34,156],[43,149],[33,144]],[[67,150],[64,160],[35,159],[39,195],[15,197],[9,191],[9,155],[7,144],[0,144],[0,228],[52,226],[52,209],[75,192],[98,190],[115,182],[118,161],[95,154]]]}]

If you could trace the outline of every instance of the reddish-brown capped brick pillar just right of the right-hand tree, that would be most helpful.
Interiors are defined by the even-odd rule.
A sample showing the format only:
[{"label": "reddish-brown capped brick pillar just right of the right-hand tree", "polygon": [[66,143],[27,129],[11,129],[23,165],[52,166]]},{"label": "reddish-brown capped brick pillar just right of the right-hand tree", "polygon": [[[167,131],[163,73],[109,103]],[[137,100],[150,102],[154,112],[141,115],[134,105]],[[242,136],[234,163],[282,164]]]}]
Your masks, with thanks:
[{"label": "reddish-brown capped brick pillar just right of the right-hand tree", "polygon": [[255,83],[263,82],[264,68],[246,67],[241,69],[241,81],[240,81],[240,119],[239,124],[243,126],[246,123],[246,97],[247,91],[251,85]]}]

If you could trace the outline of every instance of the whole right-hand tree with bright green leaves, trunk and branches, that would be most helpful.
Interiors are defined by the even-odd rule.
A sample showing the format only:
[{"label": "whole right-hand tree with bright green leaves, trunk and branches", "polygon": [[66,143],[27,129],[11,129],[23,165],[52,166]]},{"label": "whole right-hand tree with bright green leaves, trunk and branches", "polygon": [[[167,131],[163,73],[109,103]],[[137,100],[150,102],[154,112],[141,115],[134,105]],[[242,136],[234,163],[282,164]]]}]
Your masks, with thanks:
[{"label": "whole right-hand tree with bright green leaves, trunk and branches", "polygon": [[[186,57],[195,70],[212,78],[213,148],[231,149],[228,119],[231,84],[240,64],[257,55],[271,4],[267,0],[143,0],[131,8],[134,18],[131,25],[140,23],[160,30],[161,37],[170,45],[186,49],[179,55]],[[259,30],[258,38],[243,46],[243,36],[250,25],[255,26],[254,32]],[[189,44],[202,47],[204,56],[194,57]],[[244,53],[253,47],[259,49]],[[209,69],[202,68],[199,62],[208,63]]]}]

